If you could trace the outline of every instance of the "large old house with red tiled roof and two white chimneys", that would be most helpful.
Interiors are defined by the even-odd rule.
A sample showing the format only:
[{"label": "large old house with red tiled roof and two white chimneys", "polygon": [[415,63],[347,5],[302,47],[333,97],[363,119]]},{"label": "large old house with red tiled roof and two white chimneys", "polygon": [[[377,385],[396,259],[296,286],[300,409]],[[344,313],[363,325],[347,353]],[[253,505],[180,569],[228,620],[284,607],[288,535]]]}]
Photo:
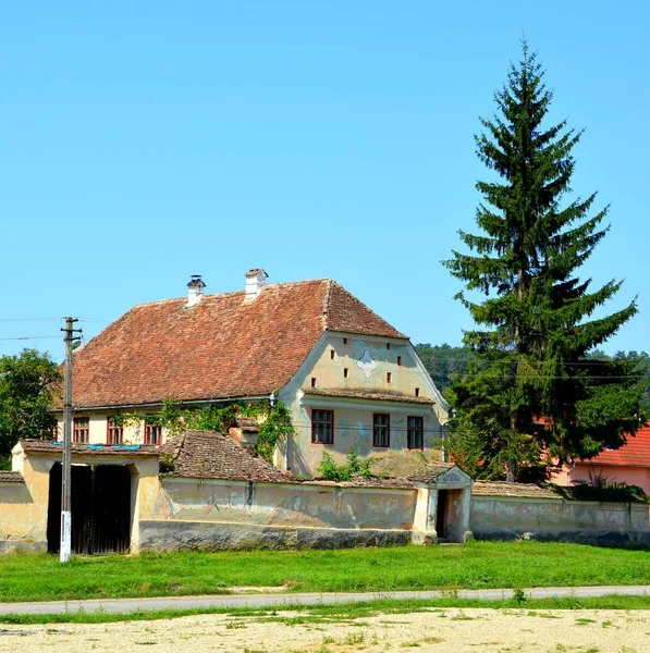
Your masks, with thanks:
[{"label": "large old house with red tiled roof and two white chimneys", "polygon": [[[447,405],[408,337],[332,280],[139,305],[74,353],[73,441],[161,445],[165,401],[183,408],[285,404],[275,465],[312,477],[323,452],[401,460],[440,451]],[[142,419],[124,421],[124,415]],[[62,412],[58,436],[62,438]]]}]

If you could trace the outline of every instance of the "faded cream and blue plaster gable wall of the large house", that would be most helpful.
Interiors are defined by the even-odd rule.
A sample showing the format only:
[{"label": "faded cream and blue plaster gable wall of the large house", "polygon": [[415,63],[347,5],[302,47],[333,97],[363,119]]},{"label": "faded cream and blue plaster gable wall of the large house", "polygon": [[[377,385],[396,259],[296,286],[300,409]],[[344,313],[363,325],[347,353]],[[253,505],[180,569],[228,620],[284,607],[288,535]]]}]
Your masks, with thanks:
[{"label": "faded cream and blue plaster gable wall of the large house", "polygon": [[[316,390],[400,393],[404,399],[387,402],[312,395],[309,394],[312,384]],[[434,403],[409,403],[409,397],[416,398],[416,389],[419,398],[429,398]],[[416,455],[416,452],[407,449],[408,416],[424,418],[425,454],[430,455],[431,449],[440,448],[440,424],[446,418],[444,401],[419,362],[413,345],[408,341],[391,338],[326,334],[298,373],[283,389],[280,398],[292,412],[295,434],[286,447],[289,459],[285,457],[284,443],[281,443],[274,461],[294,475],[306,477],[317,472],[326,451],[336,463],[344,461],[351,446],[364,457],[390,455],[400,458],[402,455]],[[333,444],[311,442],[311,411],[318,408],[333,410]],[[390,447],[372,446],[375,412],[390,415]]]}]

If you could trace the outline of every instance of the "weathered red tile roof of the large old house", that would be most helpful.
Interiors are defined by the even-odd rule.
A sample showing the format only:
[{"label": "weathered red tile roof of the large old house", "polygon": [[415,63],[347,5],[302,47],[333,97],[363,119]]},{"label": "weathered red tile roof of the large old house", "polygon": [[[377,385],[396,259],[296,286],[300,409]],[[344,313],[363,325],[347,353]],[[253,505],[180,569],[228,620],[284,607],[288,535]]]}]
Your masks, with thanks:
[{"label": "weathered red tile roof of the large old house", "polygon": [[135,306],[74,354],[78,408],[268,395],[324,331],[406,338],[329,279]]}]

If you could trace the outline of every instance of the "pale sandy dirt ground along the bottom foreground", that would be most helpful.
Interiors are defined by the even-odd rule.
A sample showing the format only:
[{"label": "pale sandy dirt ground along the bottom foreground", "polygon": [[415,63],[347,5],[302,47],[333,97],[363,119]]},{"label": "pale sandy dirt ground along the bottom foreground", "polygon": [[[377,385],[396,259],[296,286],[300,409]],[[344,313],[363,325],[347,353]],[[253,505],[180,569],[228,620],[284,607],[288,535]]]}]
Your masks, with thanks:
[{"label": "pale sandy dirt ground along the bottom foreground", "polygon": [[0,651],[647,653],[650,611],[441,608],[368,618],[203,615],[101,625],[0,625]]}]

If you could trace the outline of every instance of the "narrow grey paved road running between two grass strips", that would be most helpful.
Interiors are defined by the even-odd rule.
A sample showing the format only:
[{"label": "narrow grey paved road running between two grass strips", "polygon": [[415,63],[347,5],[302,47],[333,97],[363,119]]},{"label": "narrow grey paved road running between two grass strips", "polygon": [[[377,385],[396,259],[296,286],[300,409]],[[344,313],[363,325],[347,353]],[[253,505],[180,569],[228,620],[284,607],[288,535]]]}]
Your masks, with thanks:
[{"label": "narrow grey paved road running between two grass strips", "polygon": [[[581,588],[532,588],[525,590],[531,599],[551,596],[605,596],[608,594],[647,595],[650,586],[603,586]],[[462,599],[510,599],[513,590],[459,590]],[[0,603],[0,615],[44,615],[84,611],[130,613],[152,609],[192,609],[200,607],[273,607],[278,605],[317,605],[359,603],[377,599],[441,599],[449,592],[358,592],[303,594],[222,594],[216,596],[163,596],[156,599],[91,599],[88,601],[46,601],[42,603]]]}]

